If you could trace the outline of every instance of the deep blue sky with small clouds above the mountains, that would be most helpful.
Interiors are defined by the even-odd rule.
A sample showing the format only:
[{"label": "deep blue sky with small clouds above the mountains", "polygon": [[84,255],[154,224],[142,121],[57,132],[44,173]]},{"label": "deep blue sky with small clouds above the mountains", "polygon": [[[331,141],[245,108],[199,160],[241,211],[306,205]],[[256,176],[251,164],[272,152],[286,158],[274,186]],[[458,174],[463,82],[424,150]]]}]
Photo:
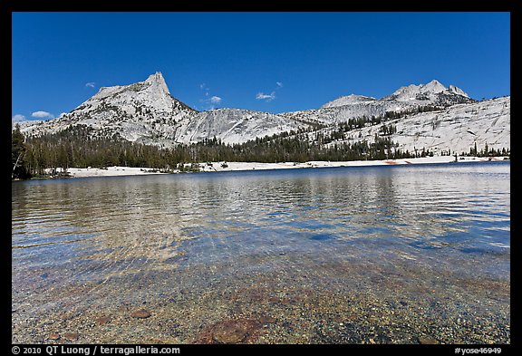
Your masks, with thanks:
[{"label": "deep blue sky with small clouds above the mountains", "polygon": [[13,13],[12,117],[72,111],[162,72],[203,111],[318,108],[436,79],[510,95],[509,13]]}]

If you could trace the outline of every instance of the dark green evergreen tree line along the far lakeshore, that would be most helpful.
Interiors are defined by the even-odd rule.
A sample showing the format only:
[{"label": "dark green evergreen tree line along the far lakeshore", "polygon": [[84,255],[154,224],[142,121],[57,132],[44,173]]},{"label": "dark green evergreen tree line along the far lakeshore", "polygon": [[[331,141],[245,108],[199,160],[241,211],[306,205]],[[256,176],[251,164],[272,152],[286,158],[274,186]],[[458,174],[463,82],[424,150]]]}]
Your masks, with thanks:
[{"label": "dark green evergreen tree line along the far lakeshore", "polygon": [[[355,122],[355,123],[353,123]],[[85,125],[70,126],[54,134],[24,138],[16,127],[12,132],[12,178],[45,176],[46,169],[104,168],[110,166],[149,167],[166,171],[195,170],[196,163],[218,161],[242,162],[305,162],[309,160],[372,160],[411,159],[433,156],[429,149],[401,150],[391,140],[396,131],[393,125],[383,124],[374,142],[346,140],[345,133],[356,120],[343,122],[337,130],[291,130],[272,136],[256,138],[241,144],[225,144],[221,140],[206,139],[198,143],[177,145],[173,148],[144,145],[112,137],[95,136]],[[312,135],[312,136],[310,136]],[[473,156],[504,156],[509,149],[478,151],[475,144],[469,150]],[[462,155],[468,155],[468,153]]]}]

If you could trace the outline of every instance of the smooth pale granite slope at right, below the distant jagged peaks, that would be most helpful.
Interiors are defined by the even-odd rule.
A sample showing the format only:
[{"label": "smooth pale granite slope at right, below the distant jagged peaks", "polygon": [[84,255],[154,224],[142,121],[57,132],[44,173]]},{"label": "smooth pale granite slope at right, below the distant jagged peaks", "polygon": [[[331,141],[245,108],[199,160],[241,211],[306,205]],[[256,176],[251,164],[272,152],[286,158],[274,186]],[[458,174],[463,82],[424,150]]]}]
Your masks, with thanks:
[{"label": "smooth pale granite slope at right, below the distant jagged peaks", "polygon": [[[365,126],[346,132],[347,140],[335,140],[328,145],[389,137],[402,151],[427,149],[434,154],[469,152],[477,144],[478,150],[486,144],[489,149],[509,149],[511,99],[503,97],[470,104],[449,106],[439,111],[419,112],[381,124]],[[393,126],[394,133],[385,134],[383,126]],[[326,128],[325,132],[333,129]]]}]

